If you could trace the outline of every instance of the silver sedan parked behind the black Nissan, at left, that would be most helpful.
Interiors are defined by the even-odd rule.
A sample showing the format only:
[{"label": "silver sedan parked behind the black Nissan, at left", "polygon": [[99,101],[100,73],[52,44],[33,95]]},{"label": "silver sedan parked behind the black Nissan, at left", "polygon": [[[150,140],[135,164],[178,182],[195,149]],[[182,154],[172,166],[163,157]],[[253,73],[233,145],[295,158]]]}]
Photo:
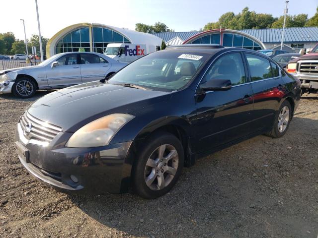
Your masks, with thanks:
[{"label": "silver sedan parked behind the black Nissan, at left", "polygon": [[36,90],[58,89],[109,77],[127,63],[93,52],[52,56],[39,65],[0,71],[0,94],[32,97]]}]

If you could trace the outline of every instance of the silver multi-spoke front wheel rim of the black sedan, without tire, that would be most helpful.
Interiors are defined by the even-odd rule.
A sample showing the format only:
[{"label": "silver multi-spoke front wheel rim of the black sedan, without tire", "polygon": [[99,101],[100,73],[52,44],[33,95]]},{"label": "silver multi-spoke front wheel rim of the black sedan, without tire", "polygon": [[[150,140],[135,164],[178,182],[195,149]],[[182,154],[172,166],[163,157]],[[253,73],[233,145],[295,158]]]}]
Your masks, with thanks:
[{"label": "silver multi-spoke front wheel rim of the black sedan, without tire", "polygon": [[172,181],[179,164],[177,150],[172,145],[160,145],[148,158],[145,182],[152,190],[161,190]]}]

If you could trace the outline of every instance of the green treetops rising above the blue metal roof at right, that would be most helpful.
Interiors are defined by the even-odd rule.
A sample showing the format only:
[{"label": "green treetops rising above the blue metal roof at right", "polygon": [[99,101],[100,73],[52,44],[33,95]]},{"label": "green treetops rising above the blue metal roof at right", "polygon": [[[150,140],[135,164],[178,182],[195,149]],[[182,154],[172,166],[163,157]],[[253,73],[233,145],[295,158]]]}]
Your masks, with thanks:
[{"label": "green treetops rising above the blue metal roof at right", "polygon": [[[317,15],[317,16],[316,16]],[[316,13],[316,24],[318,21],[318,13]],[[315,17],[314,16],[314,17]],[[313,18],[314,18],[313,17]],[[311,19],[313,19],[311,18]],[[284,16],[279,18],[273,17],[271,14],[256,13],[255,11],[249,11],[248,7],[245,7],[239,14],[235,15],[234,12],[224,13],[217,22],[207,23],[203,30],[212,30],[217,28],[227,29],[255,29],[255,28],[280,28],[283,27]],[[299,15],[287,15],[286,27],[303,27],[308,22],[307,14]],[[313,19],[315,22],[315,18]],[[312,23],[315,24],[315,23]]]}]

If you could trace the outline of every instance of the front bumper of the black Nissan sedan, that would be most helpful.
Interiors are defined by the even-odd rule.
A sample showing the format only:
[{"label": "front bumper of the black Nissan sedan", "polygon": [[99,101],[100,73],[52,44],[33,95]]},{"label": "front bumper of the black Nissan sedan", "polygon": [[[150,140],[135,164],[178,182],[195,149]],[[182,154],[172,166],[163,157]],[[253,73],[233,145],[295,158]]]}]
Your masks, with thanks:
[{"label": "front bumper of the black Nissan sedan", "polygon": [[[41,144],[28,140],[18,123],[16,144],[28,150],[28,158],[19,156],[20,162],[36,179],[62,192],[126,192],[130,185],[131,165],[127,157],[132,141],[96,148],[64,147],[70,134],[60,132],[49,144]],[[72,180],[71,175],[78,181],[74,177]]]}]

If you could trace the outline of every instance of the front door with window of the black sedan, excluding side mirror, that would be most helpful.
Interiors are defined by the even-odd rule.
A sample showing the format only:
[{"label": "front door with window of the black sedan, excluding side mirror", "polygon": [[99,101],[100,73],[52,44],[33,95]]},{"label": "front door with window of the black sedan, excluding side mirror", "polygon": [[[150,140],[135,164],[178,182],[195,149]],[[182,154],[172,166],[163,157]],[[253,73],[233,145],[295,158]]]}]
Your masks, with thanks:
[{"label": "front door with window of the black sedan, excluding side mirror", "polygon": [[[200,152],[250,133],[253,92],[246,71],[243,55],[240,52],[228,53],[215,60],[202,78],[195,96]],[[232,88],[200,92],[201,85],[214,79],[230,79]]]}]

